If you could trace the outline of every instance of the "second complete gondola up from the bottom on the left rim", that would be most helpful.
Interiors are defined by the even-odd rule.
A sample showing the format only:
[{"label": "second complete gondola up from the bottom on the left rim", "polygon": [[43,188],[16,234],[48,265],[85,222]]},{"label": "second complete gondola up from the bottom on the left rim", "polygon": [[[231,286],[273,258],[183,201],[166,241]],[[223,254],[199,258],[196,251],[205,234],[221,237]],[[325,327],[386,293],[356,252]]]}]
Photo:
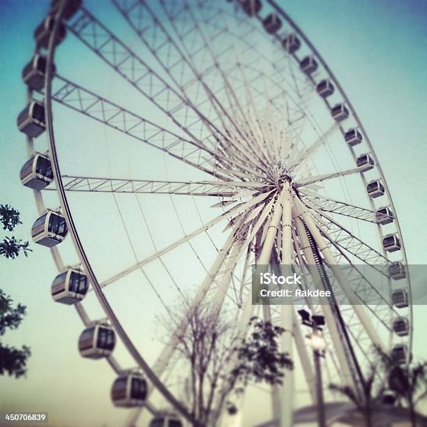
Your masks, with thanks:
[{"label": "second complete gondola up from the bottom on the left rim", "polygon": [[79,337],[79,352],[82,357],[100,359],[108,357],[116,345],[114,329],[106,322],[93,324],[84,329]]}]

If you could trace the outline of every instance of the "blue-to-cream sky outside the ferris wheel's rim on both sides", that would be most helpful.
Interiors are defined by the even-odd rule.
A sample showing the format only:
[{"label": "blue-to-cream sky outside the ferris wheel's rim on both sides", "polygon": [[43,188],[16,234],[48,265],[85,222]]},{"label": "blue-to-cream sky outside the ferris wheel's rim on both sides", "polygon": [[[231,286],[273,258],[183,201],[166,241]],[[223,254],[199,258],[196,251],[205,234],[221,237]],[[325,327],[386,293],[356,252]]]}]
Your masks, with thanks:
[{"label": "blue-to-cream sky outside the ferris wheel's rim on both sides", "polygon": [[[22,212],[24,225],[15,234],[26,240],[36,207],[31,191],[19,181],[26,153],[15,120],[26,98],[21,70],[31,57],[32,31],[47,3],[0,1],[0,203]],[[352,100],[389,184],[408,260],[427,264],[427,1],[280,3],[322,53]],[[103,3],[88,8],[103,8]],[[78,66],[70,64],[72,71]],[[123,411],[115,410],[109,400],[114,374],[103,362],[79,357],[75,340],[82,326],[74,310],[52,303],[49,285],[56,274],[54,264],[47,250],[31,247],[27,259],[0,260],[0,287],[28,306],[20,329],[4,339],[30,345],[33,352],[27,378],[0,378],[0,412],[50,412],[52,425],[58,426],[117,425]],[[414,317],[414,354],[427,358],[425,307],[415,307]]]}]

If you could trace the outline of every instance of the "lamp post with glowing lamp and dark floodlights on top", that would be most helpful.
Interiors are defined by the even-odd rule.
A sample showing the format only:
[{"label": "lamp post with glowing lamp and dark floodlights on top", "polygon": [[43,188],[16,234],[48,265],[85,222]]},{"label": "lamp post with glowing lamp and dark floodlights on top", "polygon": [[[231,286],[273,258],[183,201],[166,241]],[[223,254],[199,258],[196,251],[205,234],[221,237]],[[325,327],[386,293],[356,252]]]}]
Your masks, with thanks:
[{"label": "lamp post with glowing lamp and dark floodlights on top", "polygon": [[301,316],[302,323],[312,329],[308,335],[310,347],[313,349],[313,358],[316,373],[316,404],[317,404],[317,418],[319,427],[327,427],[326,417],[324,413],[324,400],[323,400],[323,383],[322,383],[322,367],[320,366],[320,358],[324,357],[324,349],[326,342],[323,338],[322,329],[320,326],[324,325],[324,317],[320,315],[311,315],[306,310],[299,310],[298,314]]}]

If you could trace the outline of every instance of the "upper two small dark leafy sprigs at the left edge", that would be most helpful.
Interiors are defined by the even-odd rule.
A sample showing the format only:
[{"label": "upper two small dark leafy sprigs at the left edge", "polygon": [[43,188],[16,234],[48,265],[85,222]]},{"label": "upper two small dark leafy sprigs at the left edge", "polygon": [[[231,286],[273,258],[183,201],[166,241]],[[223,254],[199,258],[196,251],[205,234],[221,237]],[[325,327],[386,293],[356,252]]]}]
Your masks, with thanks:
[{"label": "upper two small dark leafy sprigs at the left edge", "polygon": [[[20,221],[20,213],[8,204],[0,204],[0,222],[3,224],[3,230],[13,231],[18,224],[22,224]],[[22,241],[16,239],[16,237],[5,237],[0,242],[0,255],[6,258],[12,258],[20,255],[23,252],[27,257],[28,253],[31,252],[28,241]]]}]

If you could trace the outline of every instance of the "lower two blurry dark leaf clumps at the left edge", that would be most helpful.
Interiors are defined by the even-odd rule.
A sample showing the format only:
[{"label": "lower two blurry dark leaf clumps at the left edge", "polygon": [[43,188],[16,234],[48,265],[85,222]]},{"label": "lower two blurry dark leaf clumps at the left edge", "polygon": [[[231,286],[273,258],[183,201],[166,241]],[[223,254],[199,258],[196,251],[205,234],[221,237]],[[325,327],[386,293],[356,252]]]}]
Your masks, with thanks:
[{"label": "lower two blurry dark leaf clumps at the left edge", "polygon": [[[6,329],[17,329],[26,314],[27,307],[17,304],[13,308],[12,303],[12,299],[0,290],[0,336],[5,334]],[[0,342],[0,375],[8,373],[16,378],[24,375],[30,355],[31,351],[26,345],[18,349]]]}]

